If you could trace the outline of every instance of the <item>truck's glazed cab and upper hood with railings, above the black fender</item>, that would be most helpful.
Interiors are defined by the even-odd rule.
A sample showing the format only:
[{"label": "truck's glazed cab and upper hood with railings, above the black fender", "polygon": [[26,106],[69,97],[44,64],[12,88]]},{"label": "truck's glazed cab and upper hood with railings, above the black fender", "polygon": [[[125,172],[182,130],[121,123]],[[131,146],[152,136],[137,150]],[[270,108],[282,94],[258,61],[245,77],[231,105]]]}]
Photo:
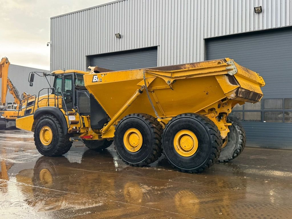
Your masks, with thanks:
[{"label": "truck's glazed cab and upper hood with railings, above the black fender", "polygon": [[[89,115],[89,93],[84,86],[83,79],[83,75],[86,73],[78,70],[57,70],[46,74],[45,77],[54,77],[53,86],[48,83],[49,86],[42,88],[38,94],[22,99],[23,104],[18,116],[32,115],[41,107],[51,106],[64,109],[66,112],[79,110],[80,115]],[[34,72],[31,72],[30,86],[33,86],[33,80]]]}]

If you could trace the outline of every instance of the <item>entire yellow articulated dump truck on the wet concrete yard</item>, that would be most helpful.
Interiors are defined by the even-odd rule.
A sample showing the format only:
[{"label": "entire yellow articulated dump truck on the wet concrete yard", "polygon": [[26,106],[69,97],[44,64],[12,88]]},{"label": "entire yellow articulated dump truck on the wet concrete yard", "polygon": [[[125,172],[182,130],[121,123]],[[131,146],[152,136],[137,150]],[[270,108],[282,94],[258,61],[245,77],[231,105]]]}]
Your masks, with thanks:
[{"label": "entire yellow articulated dump truck on the wet concrete yard", "polygon": [[[23,100],[16,127],[34,132],[45,156],[65,154],[72,141],[145,166],[164,153],[183,172],[198,173],[244,149],[232,108],[263,97],[262,77],[232,59],[147,69],[57,70],[48,94]],[[30,73],[32,85],[34,73]],[[29,97],[27,97],[29,98]],[[221,155],[220,155],[221,153]]]}]

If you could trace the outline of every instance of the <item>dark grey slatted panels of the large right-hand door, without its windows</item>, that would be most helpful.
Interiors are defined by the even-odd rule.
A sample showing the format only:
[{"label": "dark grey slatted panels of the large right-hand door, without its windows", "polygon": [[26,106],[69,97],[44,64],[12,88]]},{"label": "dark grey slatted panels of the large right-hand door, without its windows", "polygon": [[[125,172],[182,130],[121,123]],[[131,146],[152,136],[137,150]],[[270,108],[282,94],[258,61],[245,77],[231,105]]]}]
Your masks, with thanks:
[{"label": "dark grey slatted panels of the large right-hand door, without its windows", "polygon": [[[263,76],[263,99],[292,98],[292,28],[208,39],[206,44],[208,60],[230,57]],[[291,123],[242,124],[249,144],[292,147]]]}]

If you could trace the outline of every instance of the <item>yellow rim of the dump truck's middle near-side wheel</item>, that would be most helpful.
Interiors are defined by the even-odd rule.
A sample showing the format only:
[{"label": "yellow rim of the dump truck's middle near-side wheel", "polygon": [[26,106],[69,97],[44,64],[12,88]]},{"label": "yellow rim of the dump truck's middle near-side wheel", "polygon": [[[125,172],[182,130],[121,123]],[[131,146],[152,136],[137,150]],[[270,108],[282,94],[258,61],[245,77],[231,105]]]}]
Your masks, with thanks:
[{"label": "yellow rim of the dump truck's middle near-side wheel", "polygon": [[136,128],[129,128],[124,134],[124,145],[130,152],[137,152],[142,147],[143,137]]}]

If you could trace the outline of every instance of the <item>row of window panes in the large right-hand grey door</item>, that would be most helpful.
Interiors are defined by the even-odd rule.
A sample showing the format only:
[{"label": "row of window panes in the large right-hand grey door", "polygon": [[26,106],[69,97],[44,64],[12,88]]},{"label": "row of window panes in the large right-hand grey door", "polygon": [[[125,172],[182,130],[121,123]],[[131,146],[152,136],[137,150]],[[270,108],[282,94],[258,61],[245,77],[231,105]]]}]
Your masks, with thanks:
[{"label": "row of window panes in the large right-hand grey door", "polygon": [[292,123],[292,98],[263,99],[258,103],[236,105],[230,116],[245,122]]}]

